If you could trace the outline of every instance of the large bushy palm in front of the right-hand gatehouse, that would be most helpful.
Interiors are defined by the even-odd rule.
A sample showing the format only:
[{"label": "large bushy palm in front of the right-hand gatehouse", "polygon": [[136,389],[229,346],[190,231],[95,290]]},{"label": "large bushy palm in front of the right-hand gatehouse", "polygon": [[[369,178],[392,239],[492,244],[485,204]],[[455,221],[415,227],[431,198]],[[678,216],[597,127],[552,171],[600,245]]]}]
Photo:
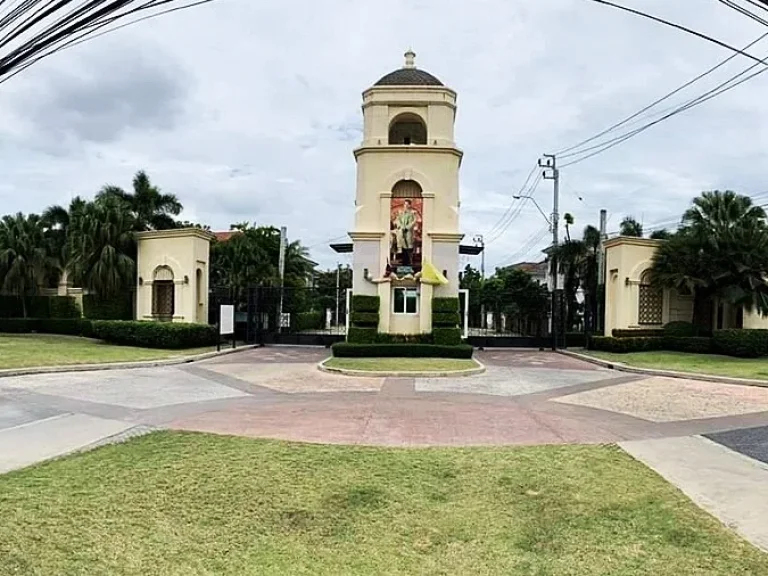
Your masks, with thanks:
[{"label": "large bushy palm in front of the right-hand gatehouse", "polygon": [[711,327],[712,298],[768,314],[765,211],[732,191],[704,192],[656,252],[652,281],[694,294],[693,322]]}]

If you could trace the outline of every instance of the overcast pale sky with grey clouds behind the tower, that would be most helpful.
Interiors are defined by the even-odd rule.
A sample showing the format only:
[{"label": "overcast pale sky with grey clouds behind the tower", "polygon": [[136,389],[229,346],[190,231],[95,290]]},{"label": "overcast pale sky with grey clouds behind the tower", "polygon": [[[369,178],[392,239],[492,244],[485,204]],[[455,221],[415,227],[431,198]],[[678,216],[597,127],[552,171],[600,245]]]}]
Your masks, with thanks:
[{"label": "overcast pale sky with grey clouds behind the tower", "polygon": [[[621,1],[739,47],[768,32],[716,0]],[[353,217],[361,92],[400,67],[409,46],[459,94],[462,230],[465,242],[486,235],[489,271],[538,259],[547,243],[530,202],[499,224],[518,212],[512,195],[540,154],[595,135],[730,55],[589,0],[216,0],[0,85],[0,212],[129,187],[145,169],[181,199],[185,219],[215,230],[285,225],[334,266],[328,241],[343,240]],[[751,51],[766,56],[768,38]],[[737,57],[662,108],[750,64]],[[600,208],[609,231],[627,214],[646,227],[675,220],[705,189],[768,202],[759,196],[768,191],[766,95],[768,74],[563,169],[561,210],[575,216],[576,234],[597,224]],[[534,194],[549,212],[551,182]]]}]

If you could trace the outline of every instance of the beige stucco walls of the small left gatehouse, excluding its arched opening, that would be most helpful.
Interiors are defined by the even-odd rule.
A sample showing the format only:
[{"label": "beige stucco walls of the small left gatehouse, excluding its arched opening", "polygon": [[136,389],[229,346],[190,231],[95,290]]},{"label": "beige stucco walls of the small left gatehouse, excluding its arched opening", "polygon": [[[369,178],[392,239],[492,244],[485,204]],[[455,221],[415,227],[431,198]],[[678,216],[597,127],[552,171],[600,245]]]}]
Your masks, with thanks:
[{"label": "beige stucco walls of the small left gatehouse, excluding its arched opening", "polygon": [[[208,323],[210,243],[213,235],[197,228],[137,234],[136,319],[152,320],[155,271],[173,271],[174,322]],[[199,272],[198,272],[199,271]]]}]

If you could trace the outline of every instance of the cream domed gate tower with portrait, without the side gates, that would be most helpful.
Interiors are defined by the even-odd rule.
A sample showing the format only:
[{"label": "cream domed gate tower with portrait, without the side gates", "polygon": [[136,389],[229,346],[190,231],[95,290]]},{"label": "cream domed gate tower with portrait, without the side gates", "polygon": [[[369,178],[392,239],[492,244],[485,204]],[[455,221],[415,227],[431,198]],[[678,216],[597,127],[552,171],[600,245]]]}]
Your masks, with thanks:
[{"label": "cream domed gate tower with portrait, without the side gates", "polygon": [[363,92],[357,161],[354,294],[381,298],[379,331],[432,330],[432,298],[458,296],[456,92],[405,65]]}]

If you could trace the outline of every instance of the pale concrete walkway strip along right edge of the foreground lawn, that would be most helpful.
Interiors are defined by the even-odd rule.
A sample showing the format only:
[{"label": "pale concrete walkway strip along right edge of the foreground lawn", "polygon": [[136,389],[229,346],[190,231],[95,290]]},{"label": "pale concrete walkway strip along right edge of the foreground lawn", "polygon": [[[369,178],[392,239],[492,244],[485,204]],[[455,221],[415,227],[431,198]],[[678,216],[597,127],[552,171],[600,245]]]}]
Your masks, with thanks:
[{"label": "pale concrete walkway strip along right edge of the foreground lawn", "polygon": [[619,445],[768,552],[768,465],[701,436]]}]

